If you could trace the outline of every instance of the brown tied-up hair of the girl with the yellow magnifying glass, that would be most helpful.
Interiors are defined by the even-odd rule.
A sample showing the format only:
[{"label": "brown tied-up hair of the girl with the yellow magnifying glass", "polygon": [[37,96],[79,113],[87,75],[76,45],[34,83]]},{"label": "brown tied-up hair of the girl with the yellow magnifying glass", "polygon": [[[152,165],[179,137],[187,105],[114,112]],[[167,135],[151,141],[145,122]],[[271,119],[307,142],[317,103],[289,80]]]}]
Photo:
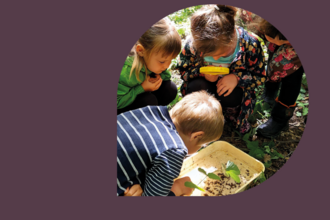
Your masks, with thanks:
[{"label": "brown tied-up hair of the girl with the yellow magnifying glass", "polygon": [[196,11],[190,19],[196,50],[205,54],[229,46],[235,36],[236,12],[228,5],[206,5]]}]

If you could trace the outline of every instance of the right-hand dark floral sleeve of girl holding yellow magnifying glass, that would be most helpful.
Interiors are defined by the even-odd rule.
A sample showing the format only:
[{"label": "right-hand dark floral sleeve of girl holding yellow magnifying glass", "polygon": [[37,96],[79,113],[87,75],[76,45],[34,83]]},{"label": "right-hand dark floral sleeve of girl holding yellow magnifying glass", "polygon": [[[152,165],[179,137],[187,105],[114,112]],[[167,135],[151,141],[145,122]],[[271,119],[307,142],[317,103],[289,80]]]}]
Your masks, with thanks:
[{"label": "right-hand dark floral sleeve of girl holding yellow magnifying glass", "polygon": [[[244,46],[243,46],[244,47]],[[243,59],[236,62],[235,75],[237,86],[251,90],[266,81],[265,56],[261,47],[261,39],[256,35],[246,42]]]}]

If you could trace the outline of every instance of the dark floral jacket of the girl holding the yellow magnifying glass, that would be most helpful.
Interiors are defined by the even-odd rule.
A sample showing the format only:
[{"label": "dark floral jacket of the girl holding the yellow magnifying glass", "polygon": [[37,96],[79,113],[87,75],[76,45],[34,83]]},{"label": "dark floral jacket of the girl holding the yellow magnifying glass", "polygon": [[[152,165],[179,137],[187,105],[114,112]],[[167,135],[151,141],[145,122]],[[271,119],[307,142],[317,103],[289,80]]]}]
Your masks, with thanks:
[{"label": "dark floral jacket of the girl holding the yellow magnifying glass", "polygon": [[[243,98],[240,105],[240,112],[233,120],[233,117],[226,116],[226,110],[223,113],[227,119],[231,118],[235,128],[240,133],[246,133],[249,129],[247,121],[249,115],[253,112],[256,102],[255,88],[262,85],[266,80],[265,57],[260,45],[260,37],[244,30],[242,27],[237,27],[239,32],[240,49],[236,54],[235,59],[231,63],[230,73],[235,74],[238,79],[238,85],[243,89]],[[180,58],[176,69],[179,70],[183,84],[181,93],[186,94],[187,85],[190,80],[196,77],[204,77],[204,74],[199,72],[202,66],[213,65],[203,61],[202,54],[197,52],[192,47],[192,40],[188,39],[186,45],[180,53]]]}]

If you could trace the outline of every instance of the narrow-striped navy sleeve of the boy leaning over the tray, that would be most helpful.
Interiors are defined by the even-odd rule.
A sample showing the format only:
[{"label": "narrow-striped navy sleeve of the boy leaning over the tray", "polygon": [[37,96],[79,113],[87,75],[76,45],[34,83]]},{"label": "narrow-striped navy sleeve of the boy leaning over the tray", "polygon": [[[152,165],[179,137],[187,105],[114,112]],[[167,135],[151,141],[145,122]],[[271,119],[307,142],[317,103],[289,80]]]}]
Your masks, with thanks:
[{"label": "narrow-striped navy sleeve of the boy leaning over the tray", "polygon": [[173,196],[173,180],[180,174],[186,153],[182,149],[164,151],[147,172],[142,196]]}]

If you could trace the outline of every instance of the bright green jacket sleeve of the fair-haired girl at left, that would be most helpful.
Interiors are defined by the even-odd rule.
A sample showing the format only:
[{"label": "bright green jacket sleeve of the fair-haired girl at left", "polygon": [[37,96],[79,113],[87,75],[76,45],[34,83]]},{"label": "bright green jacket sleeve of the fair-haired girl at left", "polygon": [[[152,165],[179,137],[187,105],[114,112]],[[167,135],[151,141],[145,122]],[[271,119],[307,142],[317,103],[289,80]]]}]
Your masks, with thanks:
[{"label": "bright green jacket sleeve of the fair-haired girl at left", "polygon": [[132,104],[136,96],[144,92],[141,86],[144,77],[140,74],[140,81],[137,80],[135,74],[129,77],[130,69],[129,66],[125,65],[120,73],[117,89],[117,109]]}]

